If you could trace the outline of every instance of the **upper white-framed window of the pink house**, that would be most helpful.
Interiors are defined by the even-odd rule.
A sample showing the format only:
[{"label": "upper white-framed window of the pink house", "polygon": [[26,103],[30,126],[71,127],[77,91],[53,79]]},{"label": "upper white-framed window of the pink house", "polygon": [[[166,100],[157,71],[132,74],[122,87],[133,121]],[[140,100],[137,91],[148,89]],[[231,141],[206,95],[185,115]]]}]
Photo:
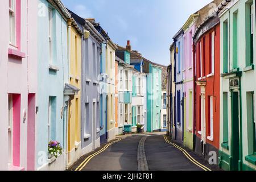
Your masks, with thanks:
[{"label": "upper white-framed window of the pink house", "polygon": [[[11,2],[11,5],[10,5]],[[10,36],[9,43],[16,46],[16,0],[9,0],[9,23],[10,23]]]}]

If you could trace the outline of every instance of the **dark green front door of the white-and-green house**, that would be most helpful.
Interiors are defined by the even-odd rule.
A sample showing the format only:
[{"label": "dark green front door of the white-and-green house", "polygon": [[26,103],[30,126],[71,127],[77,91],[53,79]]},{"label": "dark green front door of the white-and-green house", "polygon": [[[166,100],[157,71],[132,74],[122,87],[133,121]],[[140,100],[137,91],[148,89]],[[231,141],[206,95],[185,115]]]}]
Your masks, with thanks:
[{"label": "dark green front door of the white-and-green house", "polygon": [[232,165],[233,171],[238,171],[240,161],[240,144],[239,144],[239,96],[238,92],[232,92]]}]

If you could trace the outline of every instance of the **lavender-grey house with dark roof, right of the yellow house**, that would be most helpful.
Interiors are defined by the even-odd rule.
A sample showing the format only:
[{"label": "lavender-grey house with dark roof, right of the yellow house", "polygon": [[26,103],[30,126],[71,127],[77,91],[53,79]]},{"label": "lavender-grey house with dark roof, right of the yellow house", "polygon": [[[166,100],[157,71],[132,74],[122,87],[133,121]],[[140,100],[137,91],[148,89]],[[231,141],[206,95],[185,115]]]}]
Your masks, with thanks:
[{"label": "lavender-grey house with dark roof, right of the yellow house", "polygon": [[[82,40],[82,92],[81,92],[81,144],[82,155],[100,147],[101,105],[100,105],[100,65],[102,43],[105,39],[89,20],[72,13],[79,26],[83,27]],[[102,69],[103,72],[103,69]],[[103,102],[103,96],[102,96]]]}]

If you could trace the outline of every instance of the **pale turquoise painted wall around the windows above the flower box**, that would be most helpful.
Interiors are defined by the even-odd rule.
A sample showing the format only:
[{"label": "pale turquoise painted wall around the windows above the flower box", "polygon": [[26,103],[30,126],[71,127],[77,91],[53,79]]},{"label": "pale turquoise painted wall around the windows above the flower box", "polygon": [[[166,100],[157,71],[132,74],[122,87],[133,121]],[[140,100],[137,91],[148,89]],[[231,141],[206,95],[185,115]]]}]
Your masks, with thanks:
[{"label": "pale turquoise painted wall around the windows above the flower box", "polygon": [[[48,165],[48,142],[57,140],[64,145],[64,123],[61,118],[61,109],[63,108],[63,90],[64,90],[64,67],[68,63],[67,56],[67,22],[62,18],[60,13],[53,10],[53,62],[52,64],[59,69],[53,71],[49,69],[49,23],[48,23],[48,1],[39,0],[46,6],[46,16],[38,17],[38,97],[36,98],[38,113],[36,121],[36,168],[49,169]],[[47,47],[47,48],[46,48]],[[51,89],[49,89],[51,88]],[[48,105],[49,97],[55,98],[54,110],[52,113],[51,137],[48,139]],[[61,156],[60,156],[61,158]],[[53,163],[54,165],[54,163]],[[53,169],[65,169],[64,160]]]}]

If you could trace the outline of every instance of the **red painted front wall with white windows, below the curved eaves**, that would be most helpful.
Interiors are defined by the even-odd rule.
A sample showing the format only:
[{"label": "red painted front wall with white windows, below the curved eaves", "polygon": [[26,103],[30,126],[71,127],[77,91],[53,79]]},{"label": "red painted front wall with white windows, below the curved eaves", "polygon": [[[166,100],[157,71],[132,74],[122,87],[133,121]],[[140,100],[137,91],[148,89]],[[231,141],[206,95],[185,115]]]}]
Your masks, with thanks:
[{"label": "red painted front wall with white windows, below the curved eaves", "polygon": [[[212,32],[214,33],[214,72],[210,68]],[[201,48],[200,48],[201,44]],[[201,52],[200,52],[201,51]],[[200,63],[200,55],[201,63]],[[202,69],[200,67],[202,65]],[[195,151],[202,154],[200,140],[205,144],[204,157],[209,158],[209,151],[218,151],[220,131],[220,24],[208,30],[196,43],[196,136]],[[200,70],[202,74],[200,77]],[[210,97],[213,97],[213,135],[210,130]],[[202,100],[202,102],[201,102]],[[203,104],[204,103],[204,104]],[[201,108],[201,109],[200,109]],[[201,113],[201,115],[200,115]]]}]

